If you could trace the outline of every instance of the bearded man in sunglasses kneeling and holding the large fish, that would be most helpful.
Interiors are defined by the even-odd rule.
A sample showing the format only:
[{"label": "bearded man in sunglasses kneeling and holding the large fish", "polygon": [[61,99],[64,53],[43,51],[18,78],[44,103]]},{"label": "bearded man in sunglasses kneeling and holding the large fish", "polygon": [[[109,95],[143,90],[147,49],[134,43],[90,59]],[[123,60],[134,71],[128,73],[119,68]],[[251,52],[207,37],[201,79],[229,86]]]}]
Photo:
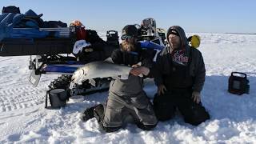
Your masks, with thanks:
[{"label": "bearded man in sunglasses kneeling and holding the large fish", "polygon": [[[95,117],[106,132],[120,129],[128,115],[142,130],[151,130],[157,125],[153,107],[142,89],[143,78],[138,76],[148,76],[153,66],[154,51],[142,50],[137,37],[138,30],[134,25],[122,29],[121,49],[114,50],[111,57],[114,63],[134,68],[128,79],[112,80],[106,106],[98,105],[85,110],[82,121]],[[142,62],[142,66],[138,66],[138,62]]]}]

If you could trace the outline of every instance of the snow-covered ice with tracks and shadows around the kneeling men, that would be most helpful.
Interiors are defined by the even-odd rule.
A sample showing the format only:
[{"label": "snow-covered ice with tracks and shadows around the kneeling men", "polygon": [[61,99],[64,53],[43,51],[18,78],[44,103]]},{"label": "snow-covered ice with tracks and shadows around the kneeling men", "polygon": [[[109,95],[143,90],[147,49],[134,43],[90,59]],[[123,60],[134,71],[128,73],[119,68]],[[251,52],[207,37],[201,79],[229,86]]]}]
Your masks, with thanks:
[{"label": "snow-covered ice with tracks and shadows around the kneeling men", "polygon": [[[47,86],[58,75],[42,75],[38,87],[33,87],[28,82],[29,57],[0,57],[0,143],[256,143],[256,35],[198,35],[202,39],[198,50],[206,64],[202,103],[210,120],[191,126],[178,114],[151,131],[128,124],[106,134],[95,118],[81,122],[79,114],[105,102],[107,92],[88,95],[60,110],[46,110]],[[232,71],[247,74],[250,94],[227,92]],[[154,97],[152,80],[146,80],[145,90]]]}]

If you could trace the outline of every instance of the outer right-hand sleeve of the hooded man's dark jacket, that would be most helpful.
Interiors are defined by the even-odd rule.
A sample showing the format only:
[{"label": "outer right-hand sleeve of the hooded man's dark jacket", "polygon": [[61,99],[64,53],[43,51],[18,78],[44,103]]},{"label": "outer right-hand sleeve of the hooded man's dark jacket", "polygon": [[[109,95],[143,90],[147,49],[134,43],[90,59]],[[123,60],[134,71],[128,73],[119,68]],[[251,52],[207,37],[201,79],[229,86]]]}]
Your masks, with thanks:
[{"label": "outer right-hand sleeve of the hooded man's dark jacket", "polygon": [[196,62],[196,68],[195,68],[195,77],[194,77],[194,91],[201,92],[205,78],[206,78],[206,68],[205,63],[203,62],[202,54],[199,52],[198,54],[198,62]]}]

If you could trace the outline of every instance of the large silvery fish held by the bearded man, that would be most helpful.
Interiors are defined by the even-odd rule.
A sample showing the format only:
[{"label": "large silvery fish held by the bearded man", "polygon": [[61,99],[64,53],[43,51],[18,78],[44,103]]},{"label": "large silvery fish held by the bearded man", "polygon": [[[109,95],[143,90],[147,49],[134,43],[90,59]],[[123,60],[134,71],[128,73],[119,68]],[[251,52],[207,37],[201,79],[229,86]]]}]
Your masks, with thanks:
[{"label": "large silvery fish held by the bearded man", "polygon": [[[110,59],[106,61],[90,62],[78,68],[71,78],[70,87],[81,84],[93,78],[121,78],[127,79],[132,67],[114,64]],[[93,82],[93,81],[92,81]]]}]

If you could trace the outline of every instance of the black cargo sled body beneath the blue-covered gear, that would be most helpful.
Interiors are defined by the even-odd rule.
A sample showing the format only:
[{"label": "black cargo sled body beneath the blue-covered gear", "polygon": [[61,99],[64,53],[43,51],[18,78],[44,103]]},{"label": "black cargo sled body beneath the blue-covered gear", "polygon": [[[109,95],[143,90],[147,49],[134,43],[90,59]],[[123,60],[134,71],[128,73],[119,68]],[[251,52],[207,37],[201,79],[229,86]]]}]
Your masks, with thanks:
[{"label": "black cargo sled body beneath the blue-covered gear", "polygon": [[[28,30],[19,28],[18,30]],[[50,31],[52,33],[66,33],[63,38],[4,38],[0,42],[0,56],[22,56],[22,55],[54,55],[54,54],[70,54],[75,42],[74,29],[58,28],[58,29],[39,29]]]}]

